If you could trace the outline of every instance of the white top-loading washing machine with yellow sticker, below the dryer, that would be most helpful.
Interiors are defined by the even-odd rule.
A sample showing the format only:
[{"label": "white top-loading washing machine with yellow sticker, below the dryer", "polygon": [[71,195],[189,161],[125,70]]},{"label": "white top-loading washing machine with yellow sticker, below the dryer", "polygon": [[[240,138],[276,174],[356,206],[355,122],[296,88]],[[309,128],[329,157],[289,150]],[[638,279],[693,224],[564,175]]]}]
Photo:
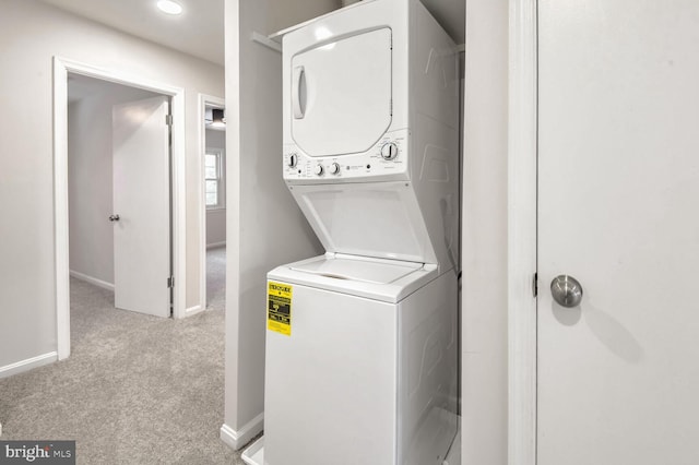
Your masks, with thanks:
[{"label": "white top-loading washing machine with yellow sticker, below the dryer", "polygon": [[457,427],[454,273],[328,254],[268,278],[284,327],[266,334],[264,463],[441,465]]}]

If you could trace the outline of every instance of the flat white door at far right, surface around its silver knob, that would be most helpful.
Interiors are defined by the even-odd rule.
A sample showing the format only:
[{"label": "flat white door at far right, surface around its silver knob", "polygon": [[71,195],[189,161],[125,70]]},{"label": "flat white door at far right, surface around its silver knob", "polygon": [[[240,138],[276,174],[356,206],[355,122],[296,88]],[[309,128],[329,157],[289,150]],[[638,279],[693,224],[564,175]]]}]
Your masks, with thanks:
[{"label": "flat white door at far right, surface around its silver knob", "polygon": [[538,10],[537,463],[699,464],[699,1]]}]

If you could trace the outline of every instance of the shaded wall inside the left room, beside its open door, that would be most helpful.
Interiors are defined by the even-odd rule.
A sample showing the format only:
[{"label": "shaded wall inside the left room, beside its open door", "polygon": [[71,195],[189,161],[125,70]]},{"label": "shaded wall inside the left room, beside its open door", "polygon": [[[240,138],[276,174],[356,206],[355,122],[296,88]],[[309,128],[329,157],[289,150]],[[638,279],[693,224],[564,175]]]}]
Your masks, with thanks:
[{"label": "shaded wall inside the left room, beside its open door", "polygon": [[[69,100],[75,96],[69,80]],[[86,82],[86,83],[85,83]],[[114,285],[111,108],[155,94],[80,79],[90,94],[68,106],[70,270]],[[84,88],[80,93],[85,92]]]}]

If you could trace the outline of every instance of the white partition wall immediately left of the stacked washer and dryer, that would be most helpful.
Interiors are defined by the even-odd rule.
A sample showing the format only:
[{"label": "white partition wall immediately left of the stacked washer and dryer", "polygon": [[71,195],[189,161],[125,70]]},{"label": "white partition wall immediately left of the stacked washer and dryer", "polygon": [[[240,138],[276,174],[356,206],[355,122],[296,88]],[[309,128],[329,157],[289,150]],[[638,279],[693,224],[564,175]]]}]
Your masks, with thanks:
[{"label": "white partition wall immediately left of the stacked washer and dryer", "polygon": [[[279,27],[271,20],[276,8],[293,11],[298,21],[335,8],[334,1],[291,3],[226,2],[228,219],[222,438],[234,448],[262,427],[265,274],[276,265],[322,253],[280,171],[282,56],[250,40],[252,32],[266,35]],[[303,8],[309,4],[315,8]]]}]

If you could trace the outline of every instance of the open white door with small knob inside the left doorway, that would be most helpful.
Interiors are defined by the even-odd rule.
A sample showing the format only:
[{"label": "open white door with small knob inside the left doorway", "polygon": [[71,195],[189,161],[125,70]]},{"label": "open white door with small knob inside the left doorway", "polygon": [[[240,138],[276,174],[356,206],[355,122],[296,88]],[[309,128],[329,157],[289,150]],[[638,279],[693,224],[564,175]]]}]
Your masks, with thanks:
[{"label": "open white door with small knob inside the left doorway", "polygon": [[168,98],[112,111],[115,306],[170,314]]}]

